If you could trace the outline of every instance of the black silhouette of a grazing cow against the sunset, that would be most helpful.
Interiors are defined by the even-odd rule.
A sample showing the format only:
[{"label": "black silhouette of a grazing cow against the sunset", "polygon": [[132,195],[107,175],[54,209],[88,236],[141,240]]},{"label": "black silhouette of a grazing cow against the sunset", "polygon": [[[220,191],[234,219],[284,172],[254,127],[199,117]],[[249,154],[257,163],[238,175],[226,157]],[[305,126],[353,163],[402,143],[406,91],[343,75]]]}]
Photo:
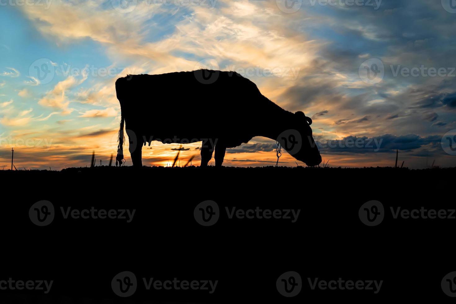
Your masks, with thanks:
[{"label": "black silhouette of a grazing cow against the sunset", "polygon": [[221,166],[227,148],[255,136],[279,141],[306,165],[321,163],[312,137],[312,120],[264,97],[254,82],[236,72],[196,70],[160,75],[127,75],[115,82],[121,120],[116,164],[124,159],[124,124],[133,166],[142,166],[141,148],[162,143],[202,141],[201,166],[215,149]]}]

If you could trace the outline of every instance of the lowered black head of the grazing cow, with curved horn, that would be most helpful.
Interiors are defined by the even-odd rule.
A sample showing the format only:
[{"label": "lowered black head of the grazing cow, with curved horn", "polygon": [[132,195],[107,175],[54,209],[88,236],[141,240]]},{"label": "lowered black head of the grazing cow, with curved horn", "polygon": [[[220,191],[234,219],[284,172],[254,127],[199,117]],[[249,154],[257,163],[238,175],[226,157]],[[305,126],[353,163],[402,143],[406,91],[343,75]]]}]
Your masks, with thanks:
[{"label": "lowered black head of the grazing cow, with curved horn", "polygon": [[321,163],[321,155],[312,137],[312,119],[301,111],[296,112],[286,122],[290,129],[285,130],[277,139],[290,155],[308,166],[316,166]]}]

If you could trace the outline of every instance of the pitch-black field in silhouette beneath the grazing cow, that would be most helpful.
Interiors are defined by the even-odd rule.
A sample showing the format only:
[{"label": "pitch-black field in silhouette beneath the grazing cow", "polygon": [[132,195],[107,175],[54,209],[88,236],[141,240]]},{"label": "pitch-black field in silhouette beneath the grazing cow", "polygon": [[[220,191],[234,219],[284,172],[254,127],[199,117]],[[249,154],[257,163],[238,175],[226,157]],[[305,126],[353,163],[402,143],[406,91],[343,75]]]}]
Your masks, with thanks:
[{"label": "pitch-black field in silhouette beneath the grazing cow", "polygon": [[[69,168],[0,171],[3,191],[0,280],[53,280],[41,290],[2,291],[5,303],[316,303],[390,299],[451,301],[442,278],[456,271],[456,169],[406,168]],[[39,227],[29,210],[47,200],[53,221]],[[218,221],[200,225],[195,207],[215,201]],[[383,222],[369,227],[358,211],[380,201]],[[68,209],[68,207],[71,207]],[[120,218],[64,218],[78,209],[135,209]],[[300,209],[292,218],[229,218],[238,209]],[[258,207],[258,208],[257,208]],[[394,218],[424,207],[419,218]],[[228,208],[228,212],[226,211]],[[256,211],[255,211],[256,212]],[[259,211],[258,211],[259,212]],[[33,212],[32,212],[33,213]],[[98,213],[99,214],[99,213]],[[119,213],[117,213],[119,214]],[[260,213],[261,214],[261,213]],[[262,213],[264,215],[264,213]],[[124,214],[126,215],[126,214]],[[292,217],[291,212],[289,215]],[[89,216],[90,217],[90,216]],[[135,273],[135,294],[114,294],[117,273]],[[301,292],[282,296],[282,273],[301,276]],[[146,290],[149,280],[218,280],[208,290]],[[383,281],[377,290],[311,289],[325,280]]]}]

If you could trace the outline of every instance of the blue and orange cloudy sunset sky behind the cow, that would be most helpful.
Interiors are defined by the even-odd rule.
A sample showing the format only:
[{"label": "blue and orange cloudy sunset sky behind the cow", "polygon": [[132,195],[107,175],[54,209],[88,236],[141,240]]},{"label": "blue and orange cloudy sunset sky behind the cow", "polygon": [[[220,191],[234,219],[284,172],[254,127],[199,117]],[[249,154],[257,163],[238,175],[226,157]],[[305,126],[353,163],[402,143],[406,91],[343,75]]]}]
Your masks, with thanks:
[{"label": "blue and orange cloudy sunset sky behind the cow", "polygon": [[[106,165],[115,80],[201,67],[306,113],[331,166],[392,166],[396,149],[410,168],[456,166],[455,32],[455,0],[0,0],[0,166],[11,148],[17,169],[86,166],[92,151]],[[199,146],[181,165],[199,164]],[[152,142],[143,164],[179,148]],[[275,149],[255,137],[224,165],[275,165]]]}]

